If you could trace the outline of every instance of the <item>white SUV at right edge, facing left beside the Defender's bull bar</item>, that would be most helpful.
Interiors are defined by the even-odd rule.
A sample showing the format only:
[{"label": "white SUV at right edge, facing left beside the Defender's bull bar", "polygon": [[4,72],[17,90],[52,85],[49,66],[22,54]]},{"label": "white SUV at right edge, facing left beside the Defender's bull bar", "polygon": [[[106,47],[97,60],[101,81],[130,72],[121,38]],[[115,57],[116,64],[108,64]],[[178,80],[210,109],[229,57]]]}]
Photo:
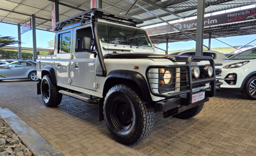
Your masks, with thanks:
[{"label": "white SUV at right edge, facing left beside the Defender's bull bar", "polygon": [[256,48],[240,52],[215,66],[220,89],[240,90],[248,99],[256,100]]}]

